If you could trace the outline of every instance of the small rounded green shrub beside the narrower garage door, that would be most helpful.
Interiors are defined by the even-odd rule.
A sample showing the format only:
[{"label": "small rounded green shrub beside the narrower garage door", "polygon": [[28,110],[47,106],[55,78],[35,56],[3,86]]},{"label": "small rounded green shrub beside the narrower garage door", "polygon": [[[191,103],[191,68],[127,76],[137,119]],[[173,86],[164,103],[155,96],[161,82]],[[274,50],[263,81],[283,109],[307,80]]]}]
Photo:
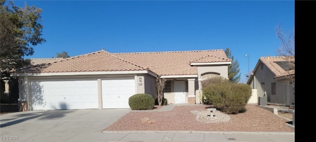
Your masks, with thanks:
[{"label": "small rounded green shrub beside the narrower garage door", "polygon": [[132,110],[148,110],[155,106],[155,99],[149,94],[135,94],[128,99],[128,105]]}]

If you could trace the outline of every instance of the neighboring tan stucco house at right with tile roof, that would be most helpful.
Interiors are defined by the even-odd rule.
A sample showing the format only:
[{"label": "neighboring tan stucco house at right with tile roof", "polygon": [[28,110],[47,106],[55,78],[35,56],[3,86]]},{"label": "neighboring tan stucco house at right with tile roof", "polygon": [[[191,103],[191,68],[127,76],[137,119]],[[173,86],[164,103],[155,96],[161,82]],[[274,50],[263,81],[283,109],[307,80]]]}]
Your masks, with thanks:
[{"label": "neighboring tan stucco house at right with tile roof", "polygon": [[267,97],[267,104],[294,105],[293,86],[288,81],[295,76],[295,72],[289,70],[288,62],[280,56],[260,57],[247,81],[253,89],[253,95]]}]

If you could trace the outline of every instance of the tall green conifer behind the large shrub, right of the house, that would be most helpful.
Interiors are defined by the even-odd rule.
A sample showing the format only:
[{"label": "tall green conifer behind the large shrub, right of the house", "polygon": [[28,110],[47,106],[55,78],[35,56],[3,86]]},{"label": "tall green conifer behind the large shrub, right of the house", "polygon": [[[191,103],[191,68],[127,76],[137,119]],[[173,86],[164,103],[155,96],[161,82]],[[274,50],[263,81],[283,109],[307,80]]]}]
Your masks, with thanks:
[{"label": "tall green conifer behind the large shrub, right of the house", "polygon": [[234,61],[234,56],[229,48],[226,48],[225,54],[229,59],[232,59],[232,64],[228,65],[228,79],[230,82],[238,83],[240,80],[239,63],[237,60]]}]

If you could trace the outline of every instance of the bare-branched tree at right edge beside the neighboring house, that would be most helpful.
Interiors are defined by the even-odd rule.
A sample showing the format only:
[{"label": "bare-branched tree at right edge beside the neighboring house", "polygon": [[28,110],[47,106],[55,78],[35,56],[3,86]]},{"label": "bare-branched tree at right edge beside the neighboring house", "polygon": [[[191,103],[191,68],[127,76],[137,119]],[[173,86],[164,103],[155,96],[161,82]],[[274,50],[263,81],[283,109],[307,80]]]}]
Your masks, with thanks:
[{"label": "bare-branched tree at right edge beside the neighboring house", "polygon": [[290,31],[290,34],[286,36],[282,32],[281,25],[276,26],[276,34],[280,39],[281,45],[277,49],[278,56],[283,56],[286,62],[288,63],[288,74],[287,82],[292,85],[293,93],[295,94],[295,29],[293,32]]}]

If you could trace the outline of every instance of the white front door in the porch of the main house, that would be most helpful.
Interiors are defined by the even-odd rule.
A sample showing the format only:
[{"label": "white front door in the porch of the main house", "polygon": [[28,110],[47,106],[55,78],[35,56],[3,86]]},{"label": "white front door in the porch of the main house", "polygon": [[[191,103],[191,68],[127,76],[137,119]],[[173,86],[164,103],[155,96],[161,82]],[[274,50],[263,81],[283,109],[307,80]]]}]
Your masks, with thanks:
[{"label": "white front door in the porch of the main house", "polygon": [[174,81],[174,103],[185,103],[185,81]]}]

